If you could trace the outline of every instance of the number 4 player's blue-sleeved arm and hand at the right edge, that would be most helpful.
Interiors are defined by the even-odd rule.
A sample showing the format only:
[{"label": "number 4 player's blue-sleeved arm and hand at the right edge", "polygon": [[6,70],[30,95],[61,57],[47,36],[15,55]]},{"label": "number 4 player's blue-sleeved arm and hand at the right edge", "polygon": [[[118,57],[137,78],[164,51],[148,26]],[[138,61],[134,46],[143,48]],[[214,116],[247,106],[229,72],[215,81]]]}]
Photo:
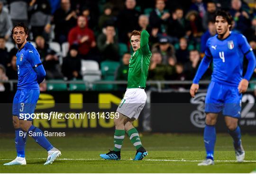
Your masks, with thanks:
[{"label": "number 4 player's blue-sleeved arm and hand at the right edge", "polygon": [[252,77],[253,71],[255,69],[256,59],[255,59],[254,53],[252,52],[252,48],[250,47],[249,43],[247,42],[246,37],[244,35],[240,35],[240,36],[241,36],[241,38],[239,38],[239,40],[238,40],[239,47],[248,60],[246,74],[238,85],[239,92],[244,93],[247,91],[249,80]]}]

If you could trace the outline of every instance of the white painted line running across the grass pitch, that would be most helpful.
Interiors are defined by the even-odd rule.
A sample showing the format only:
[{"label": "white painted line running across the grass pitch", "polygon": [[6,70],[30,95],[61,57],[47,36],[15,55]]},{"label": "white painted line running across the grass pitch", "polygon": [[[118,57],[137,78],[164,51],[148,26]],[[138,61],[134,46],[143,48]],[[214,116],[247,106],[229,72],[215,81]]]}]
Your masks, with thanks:
[{"label": "white painted line running across the grass pitch", "polygon": [[[37,159],[46,159],[46,158],[33,158],[33,159],[27,159],[27,160],[37,160]],[[12,160],[12,159],[0,159],[1,161],[3,160]],[[93,161],[93,160],[104,160],[104,159],[90,159],[90,158],[78,158],[78,159],[73,159],[73,158],[59,158],[56,160],[71,160],[71,161]],[[131,161],[132,159],[121,159],[125,161]],[[181,159],[181,160],[176,160],[176,159],[143,159],[143,161],[170,161],[170,162],[201,162],[202,160],[186,160],[186,159]],[[237,162],[236,160],[214,160],[215,162]],[[256,160],[245,160],[243,162],[256,162]]]}]

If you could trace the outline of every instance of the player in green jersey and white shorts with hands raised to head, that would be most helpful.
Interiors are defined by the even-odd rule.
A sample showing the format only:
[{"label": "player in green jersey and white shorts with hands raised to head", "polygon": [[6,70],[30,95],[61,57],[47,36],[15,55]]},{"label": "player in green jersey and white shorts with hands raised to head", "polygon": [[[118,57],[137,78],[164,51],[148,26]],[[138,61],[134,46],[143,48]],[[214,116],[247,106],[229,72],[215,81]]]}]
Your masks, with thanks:
[{"label": "player in green jersey and white shorts with hands raised to head", "polygon": [[134,30],[131,33],[130,43],[133,54],[129,60],[128,86],[124,98],[121,100],[117,112],[119,118],[114,119],[116,127],[114,134],[114,149],[107,154],[101,154],[104,159],[121,158],[120,151],[127,132],[130,141],[136,147],[137,152],[134,160],[142,160],[147,151],[142,147],[138,131],[133,127],[132,122],[138,119],[140,112],[146,104],[146,78],[151,58],[148,45],[149,34],[146,30]]}]

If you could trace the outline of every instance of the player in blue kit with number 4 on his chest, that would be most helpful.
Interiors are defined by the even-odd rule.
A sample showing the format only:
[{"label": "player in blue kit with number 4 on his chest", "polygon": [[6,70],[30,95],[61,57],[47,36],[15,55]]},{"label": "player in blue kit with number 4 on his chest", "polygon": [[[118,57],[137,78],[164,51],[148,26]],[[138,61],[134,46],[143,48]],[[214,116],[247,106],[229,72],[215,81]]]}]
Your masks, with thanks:
[{"label": "player in blue kit with number 4 on his chest", "polygon": [[[198,165],[214,164],[215,124],[218,113],[221,111],[225,115],[229,134],[233,138],[237,161],[242,162],[245,157],[238,119],[241,112],[242,93],[247,91],[256,60],[245,36],[230,31],[231,22],[232,17],[228,12],[220,10],[216,13],[217,35],[208,39],[205,56],[190,88],[190,94],[194,97],[199,89],[200,78],[208,69],[210,62],[213,61],[211,82],[205,98],[204,145],[206,159]],[[248,60],[248,66],[245,76],[242,76],[244,56]]]}]

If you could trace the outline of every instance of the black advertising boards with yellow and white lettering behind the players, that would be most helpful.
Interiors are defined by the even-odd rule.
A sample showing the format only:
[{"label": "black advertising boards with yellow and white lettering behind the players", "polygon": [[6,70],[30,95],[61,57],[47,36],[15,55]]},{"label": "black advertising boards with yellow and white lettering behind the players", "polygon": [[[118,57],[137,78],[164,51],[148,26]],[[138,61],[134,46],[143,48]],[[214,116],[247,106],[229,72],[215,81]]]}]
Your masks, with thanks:
[{"label": "black advertising boards with yellow and white lettering behind the players", "polygon": [[[0,131],[13,131],[12,99],[14,92],[0,93],[1,122]],[[107,114],[116,114],[116,109],[124,95],[123,91],[113,92],[68,92],[51,91],[41,93],[35,113],[52,112],[51,119],[40,116],[33,124],[43,130],[55,131],[113,131],[113,119]],[[204,128],[204,99],[206,93],[198,93],[191,98],[188,92],[147,91],[147,104],[134,126],[141,131],[151,132],[202,132]],[[256,132],[256,96],[252,92],[243,95],[242,112],[239,125],[243,132]],[[78,114],[77,118],[64,115]],[[94,113],[94,114],[93,114]],[[62,114],[61,117],[56,118]],[[55,118],[53,118],[55,116]],[[79,117],[80,116],[80,117]],[[83,116],[83,117],[82,117]],[[111,117],[113,118],[113,117]],[[216,129],[226,132],[224,117],[219,116]]]}]

